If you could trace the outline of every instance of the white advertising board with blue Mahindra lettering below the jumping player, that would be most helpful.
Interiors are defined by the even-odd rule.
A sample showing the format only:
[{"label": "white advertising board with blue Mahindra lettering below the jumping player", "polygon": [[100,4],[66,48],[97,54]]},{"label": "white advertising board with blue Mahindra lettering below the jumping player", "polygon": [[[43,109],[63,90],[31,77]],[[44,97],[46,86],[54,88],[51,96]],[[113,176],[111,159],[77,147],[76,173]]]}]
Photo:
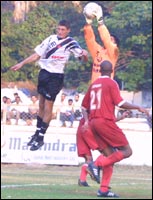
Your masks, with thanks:
[{"label": "white advertising board with blue Mahindra lettering below the jumping player", "polygon": [[27,146],[31,133],[9,131],[1,136],[1,162],[78,165],[76,136],[46,134],[37,151]]}]

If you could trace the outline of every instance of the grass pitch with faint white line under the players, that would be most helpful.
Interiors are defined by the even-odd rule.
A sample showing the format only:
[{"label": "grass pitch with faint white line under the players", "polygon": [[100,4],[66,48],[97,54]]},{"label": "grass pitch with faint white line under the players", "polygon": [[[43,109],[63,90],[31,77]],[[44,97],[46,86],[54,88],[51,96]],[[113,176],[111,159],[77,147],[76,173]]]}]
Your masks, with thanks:
[{"label": "grass pitch with faint white line under the players", "polygon": [[[80,166],[1,164],[1,199],[100,199],[96,196],[99,184],[90,176],[87,179],[90,187],[78,186],[80,169]],[[152,199],[152,167],[115,165],[110,186],[120,199]]]}]

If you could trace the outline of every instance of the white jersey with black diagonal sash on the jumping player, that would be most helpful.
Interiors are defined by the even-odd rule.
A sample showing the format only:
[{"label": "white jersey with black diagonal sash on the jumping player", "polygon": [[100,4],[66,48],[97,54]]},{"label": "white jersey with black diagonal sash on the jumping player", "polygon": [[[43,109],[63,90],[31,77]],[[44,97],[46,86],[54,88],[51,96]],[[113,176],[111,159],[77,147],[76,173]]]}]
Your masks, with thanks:
[{"label": "white jersey with black diagonal sash on the jumping player", "polygon": [[39,66],[51,73],[64,73],[70,55],[79,58],[83,53],[83,49],[72,37],[58,39],[57,35],[49,36],[34,50],[41,56]]}]

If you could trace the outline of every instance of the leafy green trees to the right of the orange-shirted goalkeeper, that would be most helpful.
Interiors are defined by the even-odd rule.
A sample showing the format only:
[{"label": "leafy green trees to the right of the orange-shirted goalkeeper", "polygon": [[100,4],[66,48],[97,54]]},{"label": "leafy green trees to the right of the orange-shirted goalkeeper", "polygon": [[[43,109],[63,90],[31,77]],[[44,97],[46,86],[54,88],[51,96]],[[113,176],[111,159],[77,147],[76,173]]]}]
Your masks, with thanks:
[{"label": "leafy green trees to the right of the orange-shirted goalkeeper", "polygon": [[129,91],[151,90],[152,2],[121,1],[106,22],[121,38],[116,77]]}]

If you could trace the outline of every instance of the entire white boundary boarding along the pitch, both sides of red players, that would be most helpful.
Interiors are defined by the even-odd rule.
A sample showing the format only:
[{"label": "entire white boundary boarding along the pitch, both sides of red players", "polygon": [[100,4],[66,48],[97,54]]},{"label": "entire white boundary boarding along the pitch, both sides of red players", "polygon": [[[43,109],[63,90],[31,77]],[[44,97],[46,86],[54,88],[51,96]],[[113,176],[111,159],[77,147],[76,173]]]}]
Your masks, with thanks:
[{"label": "entire white boundary boarding along the pitch, both sides of red players", "polygon": [[[124,121],[124,120],[123,120]],[[137,130],[132,130],[132,122],[118,123],[124,125],[133,155],[119,164],[152,166],[152,132],[144,122],[133,122]],[[137,125],[138,124],[138,125]],[[139,127],[139,129],[138,129]],[[136,128],[135,128],[136,129]],[[56,165],[78,165],[84,162],[77,156],[76,128],[50,126],[45,135],[45,145],[37,151],[30,151],[27,146],[35,126],[1,126],[1,162],[2,163],[42,163]],[[94,159],[99,155],[93,152]]]}]

